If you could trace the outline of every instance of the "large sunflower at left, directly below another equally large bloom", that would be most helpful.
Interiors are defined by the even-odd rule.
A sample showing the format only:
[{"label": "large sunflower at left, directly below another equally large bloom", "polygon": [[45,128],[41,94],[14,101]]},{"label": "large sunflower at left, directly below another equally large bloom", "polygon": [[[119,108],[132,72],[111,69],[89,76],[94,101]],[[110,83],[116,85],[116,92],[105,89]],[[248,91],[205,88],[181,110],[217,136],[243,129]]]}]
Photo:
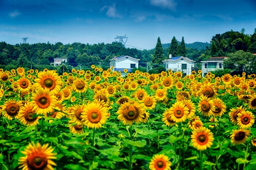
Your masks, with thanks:
[{"label": "large sunflower at left, directly below another equally large bloom", "polygon": [[34,111],[37,114],[50,113],[53,111],[55,107],[55,103],[57,102],[56,96],[53,95],[52,91],[49,91],[48,88],[39,88],[35,91],[35,93],[31,96],[31,105],[34,107]]}]

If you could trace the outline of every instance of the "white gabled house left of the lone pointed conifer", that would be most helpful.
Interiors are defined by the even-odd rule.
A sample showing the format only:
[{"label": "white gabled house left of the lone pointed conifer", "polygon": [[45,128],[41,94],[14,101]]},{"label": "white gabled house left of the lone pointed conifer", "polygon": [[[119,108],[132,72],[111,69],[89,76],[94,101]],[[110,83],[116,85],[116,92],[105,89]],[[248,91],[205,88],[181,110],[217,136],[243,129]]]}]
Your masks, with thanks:
[{"label": "white gabled house left of the lone pointed conifer", "polygon": [[130,57],[130,56],[120,56],[109,59],[110,68],[113,71],[121,71],[127,69],[127,72],[131,72],[133,68],[137,68],[139,66],[139,59]]}]

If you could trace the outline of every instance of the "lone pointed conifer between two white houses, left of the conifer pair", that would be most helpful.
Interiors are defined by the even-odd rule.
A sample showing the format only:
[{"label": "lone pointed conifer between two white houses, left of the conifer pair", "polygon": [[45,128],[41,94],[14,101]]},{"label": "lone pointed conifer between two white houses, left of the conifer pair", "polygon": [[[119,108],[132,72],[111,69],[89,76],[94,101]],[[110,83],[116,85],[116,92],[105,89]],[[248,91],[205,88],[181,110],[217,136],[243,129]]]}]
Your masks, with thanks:
[{"label": "lone pointed conifer between two white houses, left of the conifer pair", "polygon": [[160,40],[160,37],[158,37],[158,42],[156,43],[155,46],[155,52],[154,56],[152,57],[152,63],[153,67],[158,67],[158,65],[162,65],[162,61],[164,60],[164,54],[163,54],[163,48],[162,48],[162,43]]}]

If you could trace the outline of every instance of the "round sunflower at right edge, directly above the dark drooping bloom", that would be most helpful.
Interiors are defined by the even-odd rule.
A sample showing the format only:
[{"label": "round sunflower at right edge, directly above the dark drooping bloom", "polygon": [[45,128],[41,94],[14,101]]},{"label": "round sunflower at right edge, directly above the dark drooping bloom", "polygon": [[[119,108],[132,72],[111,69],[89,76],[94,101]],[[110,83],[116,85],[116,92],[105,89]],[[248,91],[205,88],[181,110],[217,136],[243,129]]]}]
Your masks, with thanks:
[{"label": "round sunflower at right edge, directly above the dark drooping bloom", "polygon": [[242,111],[237,114],[237,125],[241,128],[251,128],[255,121],[254,114],[250,111]]}]

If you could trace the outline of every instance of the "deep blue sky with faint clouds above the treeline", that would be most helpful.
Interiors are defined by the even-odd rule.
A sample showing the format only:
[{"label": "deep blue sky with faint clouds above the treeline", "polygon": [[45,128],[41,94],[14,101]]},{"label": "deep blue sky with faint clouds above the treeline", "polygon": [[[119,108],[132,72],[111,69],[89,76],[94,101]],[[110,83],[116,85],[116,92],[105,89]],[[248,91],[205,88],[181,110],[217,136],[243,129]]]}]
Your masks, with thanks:
[{"label": "deep blue sky with faint clouds above the treeline", "polygon": [[138,49],[162,43],[210,42],[217,33],[256,28],[254,0],[0,0],[0,41],[112,43],[127,36]]}]

